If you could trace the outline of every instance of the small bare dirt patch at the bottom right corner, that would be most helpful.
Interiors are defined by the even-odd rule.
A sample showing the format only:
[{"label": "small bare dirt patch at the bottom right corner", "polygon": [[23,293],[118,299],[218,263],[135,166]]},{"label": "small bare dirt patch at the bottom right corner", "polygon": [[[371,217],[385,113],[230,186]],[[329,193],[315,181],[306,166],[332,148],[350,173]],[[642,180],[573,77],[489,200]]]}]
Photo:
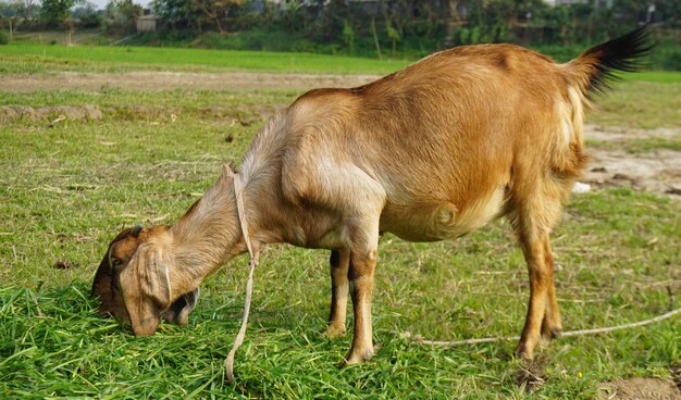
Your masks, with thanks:
[{"label": "small bare dirt patch at the bottom right corner", "polygon": [[633,377],[615,380],[600,387],[599,400],[680,400],[681,391],[673,382]]}]

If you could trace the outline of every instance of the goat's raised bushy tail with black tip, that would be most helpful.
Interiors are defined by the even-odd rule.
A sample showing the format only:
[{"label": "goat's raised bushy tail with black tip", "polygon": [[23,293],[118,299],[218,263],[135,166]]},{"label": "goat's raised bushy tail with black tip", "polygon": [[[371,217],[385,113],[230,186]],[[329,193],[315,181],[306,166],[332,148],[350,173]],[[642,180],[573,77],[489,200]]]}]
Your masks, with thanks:
[{"label": "goat's raised bushy tail with black tip", "polygon": [[582,95],[589,98],[605,91],[610,83],[619,79],[616,75],[618,71],[641,70],[641,59],[653,48],[649,33],[648,26],[643,25],[624,36],[592,47],[570,61],[568,66],[580,84]]}]

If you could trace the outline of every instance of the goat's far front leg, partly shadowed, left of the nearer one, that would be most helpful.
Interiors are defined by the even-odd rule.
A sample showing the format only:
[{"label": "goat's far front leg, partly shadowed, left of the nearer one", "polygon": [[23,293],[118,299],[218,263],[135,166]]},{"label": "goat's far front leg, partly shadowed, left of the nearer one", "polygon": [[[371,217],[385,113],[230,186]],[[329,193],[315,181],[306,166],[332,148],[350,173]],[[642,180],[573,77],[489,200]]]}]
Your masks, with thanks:
[{"label": "goat's far front leg, partly shadowed, left of the nearer one", "polygon": [[329,313],[329,326],[323,332],[330,338],[345,335],[346,332],[349,263],[349,250],[333,250],[331,252],[331,312]]}]

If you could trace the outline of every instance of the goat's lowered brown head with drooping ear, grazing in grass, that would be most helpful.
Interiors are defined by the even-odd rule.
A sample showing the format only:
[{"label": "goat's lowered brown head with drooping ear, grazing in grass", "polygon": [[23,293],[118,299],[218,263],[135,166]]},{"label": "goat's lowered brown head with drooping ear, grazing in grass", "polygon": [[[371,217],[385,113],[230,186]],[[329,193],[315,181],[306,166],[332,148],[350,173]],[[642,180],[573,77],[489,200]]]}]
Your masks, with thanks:
[{"label": "goat's lowered brown head with drooping ear, grazing in grass", "polygon": [[121,232],[109,245],[95,275],[92,295],[101,300],[99,312],[131,323],[135,335],[152,335],[161,316],[186,325],[198,301],[198,288],[172,299],[170,265],[153,242],[168,229],[138,226]]}]

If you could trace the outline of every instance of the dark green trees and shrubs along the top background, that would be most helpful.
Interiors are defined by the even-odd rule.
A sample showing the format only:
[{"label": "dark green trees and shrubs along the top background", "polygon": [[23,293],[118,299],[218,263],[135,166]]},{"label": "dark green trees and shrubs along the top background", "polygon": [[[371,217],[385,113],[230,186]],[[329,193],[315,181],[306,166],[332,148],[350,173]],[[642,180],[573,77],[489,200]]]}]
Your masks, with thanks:
[{"label": "dark green trees and shrubs along the top background", "polygon": [[[158,32],[135,34],[143,14],[133,0],[98,11],[75,0],[3,0],[0,32],[100,28],[109,42],[232,50],[304,51],[413,60],[456,45],[516,42],[565,61],[587,46],[655,26],[651,66],[681,70],[681,2],[587,0],[154,0]],[[133,35],[132,37],[129,37]],[[0,35],[0,43],[3,40]],[[71,41],[70,41],[71,42]]]}]

